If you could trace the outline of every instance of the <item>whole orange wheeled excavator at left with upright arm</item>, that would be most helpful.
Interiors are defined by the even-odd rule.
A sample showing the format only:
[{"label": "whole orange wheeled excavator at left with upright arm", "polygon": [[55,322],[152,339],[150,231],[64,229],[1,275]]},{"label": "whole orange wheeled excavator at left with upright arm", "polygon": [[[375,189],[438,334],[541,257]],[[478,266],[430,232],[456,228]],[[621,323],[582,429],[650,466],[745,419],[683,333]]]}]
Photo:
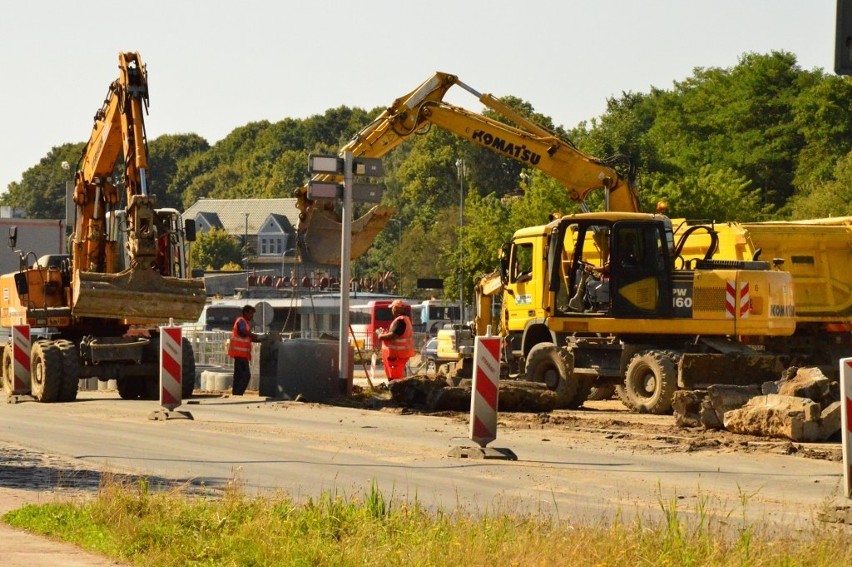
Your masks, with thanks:
[{"label": "whole orange wheeled excavator at left with upright arm", "polygon": [[[206,301],[203,282],[187,270],[194,223],[157,209],[148,189],[147,69],[138,53],[119,53],[118,60],[119,77],[95,114],[75,174],[70,255],[32,262],[32,254],[21,253],[20,270],[0,276],[0,324],[42,331],[30,356],[31,393],[41,402],[74,400],[79,379],[89,377],[116,379],[125,399],[157,399],[157,325],[195,321]],[[111,182],[120,157],[124,199]],[[11,394],[11,345],[3,350],[2,373]],[[195,370],[185,339],[183,378],[189,397]]]}]

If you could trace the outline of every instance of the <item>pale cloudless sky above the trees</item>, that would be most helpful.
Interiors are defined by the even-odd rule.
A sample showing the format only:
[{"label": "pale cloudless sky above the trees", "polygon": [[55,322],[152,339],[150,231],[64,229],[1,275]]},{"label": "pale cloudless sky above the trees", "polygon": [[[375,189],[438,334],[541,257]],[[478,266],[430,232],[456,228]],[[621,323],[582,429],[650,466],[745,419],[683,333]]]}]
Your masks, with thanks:
[{"label": "pale cloudless sky above the trees", "polygon": [[[388,106],[435,71],[572,128],[607,98],[787,51],[834,68],[836,0],[29,0],[0,19],[0,190],[88,140],[118,53],[148,67],[149,140]],[[446,101],[480,112],[459,87]],[[354,134],[354,132],[353,132]],[[307,164],[306,164],[307,167]]]}]

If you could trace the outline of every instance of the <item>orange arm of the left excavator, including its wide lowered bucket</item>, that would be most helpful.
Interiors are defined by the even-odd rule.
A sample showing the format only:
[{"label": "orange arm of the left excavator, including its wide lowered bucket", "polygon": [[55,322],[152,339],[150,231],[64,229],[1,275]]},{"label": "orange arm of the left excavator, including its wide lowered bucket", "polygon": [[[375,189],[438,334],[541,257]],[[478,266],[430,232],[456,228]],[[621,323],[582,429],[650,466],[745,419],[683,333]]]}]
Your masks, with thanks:
[{"label": "orange arm of the left excavator, including its wide lowered bucket", "polygon": [[[205,301],[201,282],[164,277],[158,251],[168,245],[169,227],[159,221],[156,197],[148,192],[148,148],[143,112],[148,107],[148,77],[138,53],[119,53],[119,77],[110,84],[95,114],[91,136],[75,175],[76,221],[72,240],[75,317],[131,321],[197,319]],[[118,189],[111,183],[124,157],[126,227],[130,266],[119,272],[115,235]]]}]

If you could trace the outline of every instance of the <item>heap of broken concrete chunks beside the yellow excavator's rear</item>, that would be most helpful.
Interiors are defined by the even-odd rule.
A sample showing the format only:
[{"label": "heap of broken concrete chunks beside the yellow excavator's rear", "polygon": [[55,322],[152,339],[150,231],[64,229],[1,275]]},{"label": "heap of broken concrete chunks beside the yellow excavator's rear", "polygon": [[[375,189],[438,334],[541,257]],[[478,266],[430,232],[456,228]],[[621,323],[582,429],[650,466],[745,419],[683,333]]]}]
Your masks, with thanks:
[{"label": "heap of broken concrete chunks beside the yellow excavator's rear", "polygon": [[840,431],[839,388],[817,368],[790,368],[762,386],[714,385],[675,394],[681,427],[823,442]]}]

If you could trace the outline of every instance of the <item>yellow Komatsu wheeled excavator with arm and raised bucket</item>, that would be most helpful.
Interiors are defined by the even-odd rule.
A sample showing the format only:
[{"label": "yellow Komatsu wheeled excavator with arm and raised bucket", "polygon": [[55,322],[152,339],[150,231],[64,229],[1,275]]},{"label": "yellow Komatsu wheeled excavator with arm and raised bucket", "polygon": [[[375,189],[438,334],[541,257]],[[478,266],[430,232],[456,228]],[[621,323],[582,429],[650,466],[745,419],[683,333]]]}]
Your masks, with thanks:
[{"label": "yellow Komatsu wheeled excavator with arm and raised bucket", "polygon": [[[514,126],[444,102],[453,85]],[[714,260],[710,252],[689,267],[681,258],[678,269],[672,222],[640,213],[629,162],[622,175],[615,166],[624,160],[588,156],[446,73],[395,100],[342,151],[378,157],[429,126],[540,169],[584,211],[516,232],[499,275],[477,286],[476,332],[499,327],[510,370],[544,382],[573,407],[593,386],[619,384],[628,405],[654,413],[669,410],[678,387],[754,380],[776,370],[776,357],[731,337],[794,332],[790,274],[769,262]],[[590,213],[585,200],[597,190],[604,192],[606,212]],[[340,225],[331,216],[333,203],[308,200],[307,187],[296,195],[303,253],[338,262]],[[390,212],[377,207],[356,222],[353,258],[369,247]],[[633,244],[626,244],[628,239]],[[589,280],[595,269],[606,271],[600,278],[605,281]],[[502,294],[499,325],[490,318],[497,294]],[[460,353],[461,344],[458,337]],[[731,376],[738,368],[750,369],[751,375]]]}]

